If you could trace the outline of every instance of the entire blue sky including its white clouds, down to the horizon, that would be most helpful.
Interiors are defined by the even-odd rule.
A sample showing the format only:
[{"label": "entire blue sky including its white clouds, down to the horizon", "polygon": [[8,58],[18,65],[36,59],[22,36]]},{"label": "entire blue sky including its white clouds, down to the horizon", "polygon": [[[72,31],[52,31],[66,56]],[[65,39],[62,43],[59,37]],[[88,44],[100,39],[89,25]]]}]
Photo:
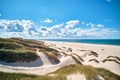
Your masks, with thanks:
[{"label": "entire blue sky including its white clouds, down to the horizon", "polygon": [[120,0],[0,0],[0,37],[120,39]]}]

